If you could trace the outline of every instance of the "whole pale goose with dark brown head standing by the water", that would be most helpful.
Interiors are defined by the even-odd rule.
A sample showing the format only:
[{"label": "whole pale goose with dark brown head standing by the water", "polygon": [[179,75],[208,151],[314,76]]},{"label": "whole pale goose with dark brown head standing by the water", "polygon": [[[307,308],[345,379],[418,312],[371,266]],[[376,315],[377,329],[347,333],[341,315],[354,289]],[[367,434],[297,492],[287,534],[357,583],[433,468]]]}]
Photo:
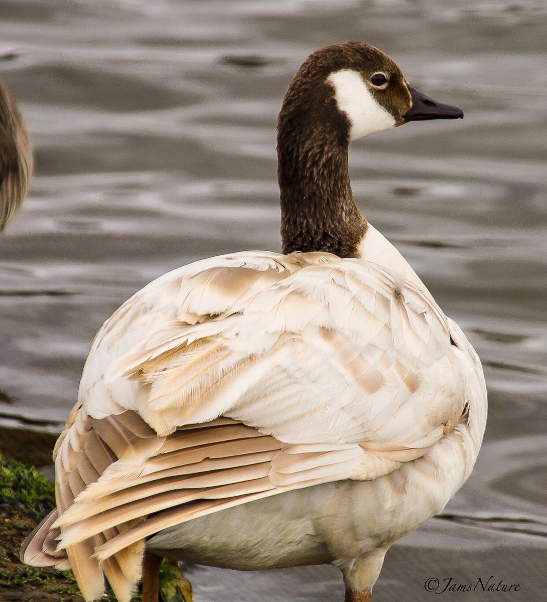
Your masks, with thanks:
[{"label": "whole pale goose with dark brown head standing by the water", "polygon": [[157,602],[163,557],[330,563],[372,600],[390,545],[469,476],[487,401],[463,332],[358,211],[348,144],[460,117],[374,46],[305,60],[278,120],[283,252],[178,268],[103,324],[23,562],[120,602],[141,577]]}]

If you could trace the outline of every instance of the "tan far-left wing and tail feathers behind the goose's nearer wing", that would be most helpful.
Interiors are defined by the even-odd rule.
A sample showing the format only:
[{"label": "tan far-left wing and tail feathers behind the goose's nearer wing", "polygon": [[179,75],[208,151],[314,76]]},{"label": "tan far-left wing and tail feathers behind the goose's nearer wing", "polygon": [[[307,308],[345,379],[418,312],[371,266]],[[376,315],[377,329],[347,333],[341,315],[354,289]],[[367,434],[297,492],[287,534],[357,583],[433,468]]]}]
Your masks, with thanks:
[{"label": "tan far-left wing and tail feathers behind the goose's nearer wing", "polygon": [[23,562],[72,568],[86,600],[93,600],[104,591],[106,576],[118,599],[129,600],[140,577],[142,542],[134,542],[119,550],[104,559],[100,566],[93,554],[96,548],[133,527],[136,521],[124,517],[111,526],[102,525],[89,538],[58,550],[55,550],[58,545],[56,540],[62,530],[53,526],[53,523],[58,515],[63,515],[73,506],[78,494],[95,483],[120,457],[145,457],[151,449],[160,447],[161,442],[162,439],[134,412],[93,420],[81,405],[76,405],[67,421],[66,430],[55,446],[57,510],[23,543]]}]

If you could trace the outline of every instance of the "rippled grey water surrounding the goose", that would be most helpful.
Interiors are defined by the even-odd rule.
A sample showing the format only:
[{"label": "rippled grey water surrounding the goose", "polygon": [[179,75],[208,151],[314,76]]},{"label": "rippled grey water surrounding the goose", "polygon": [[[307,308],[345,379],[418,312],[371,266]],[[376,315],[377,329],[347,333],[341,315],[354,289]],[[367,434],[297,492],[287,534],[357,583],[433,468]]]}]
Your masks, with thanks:
[{"label": "rippled grey water surrounding the goose", "polygon": [[[483,360],[489,423],[443,517],[387,556],[375,601],[435,600],[428,578],[519,583],[440,600],[545,600],[545,0],[0,0],[0,75],[36,175],[0,239],[0,423],[55,432],[102,321],[205,256],[278,250],[275,119],[309,52],[390,54],[461,122],[351,147],[367,219]],[[196,602],[341,600],[336,569],[196,569]]]}]

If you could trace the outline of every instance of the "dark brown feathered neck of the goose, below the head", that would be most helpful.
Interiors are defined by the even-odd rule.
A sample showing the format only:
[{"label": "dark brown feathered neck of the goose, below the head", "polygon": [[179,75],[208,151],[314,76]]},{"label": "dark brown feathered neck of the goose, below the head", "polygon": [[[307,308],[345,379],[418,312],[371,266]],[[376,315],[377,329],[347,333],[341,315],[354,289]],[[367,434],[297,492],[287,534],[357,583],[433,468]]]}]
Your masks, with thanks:
[{"label": "dark brown feathered neck of the goose, below the head", "polygon": [[282,110],[278,181],[283,253],[325,251],[340,257],[358,256],[366,221],[355,205],[349,182],[347,123],[328,122],[330,129],[321,129],[317,121],[306,127],[283,117]]}]

